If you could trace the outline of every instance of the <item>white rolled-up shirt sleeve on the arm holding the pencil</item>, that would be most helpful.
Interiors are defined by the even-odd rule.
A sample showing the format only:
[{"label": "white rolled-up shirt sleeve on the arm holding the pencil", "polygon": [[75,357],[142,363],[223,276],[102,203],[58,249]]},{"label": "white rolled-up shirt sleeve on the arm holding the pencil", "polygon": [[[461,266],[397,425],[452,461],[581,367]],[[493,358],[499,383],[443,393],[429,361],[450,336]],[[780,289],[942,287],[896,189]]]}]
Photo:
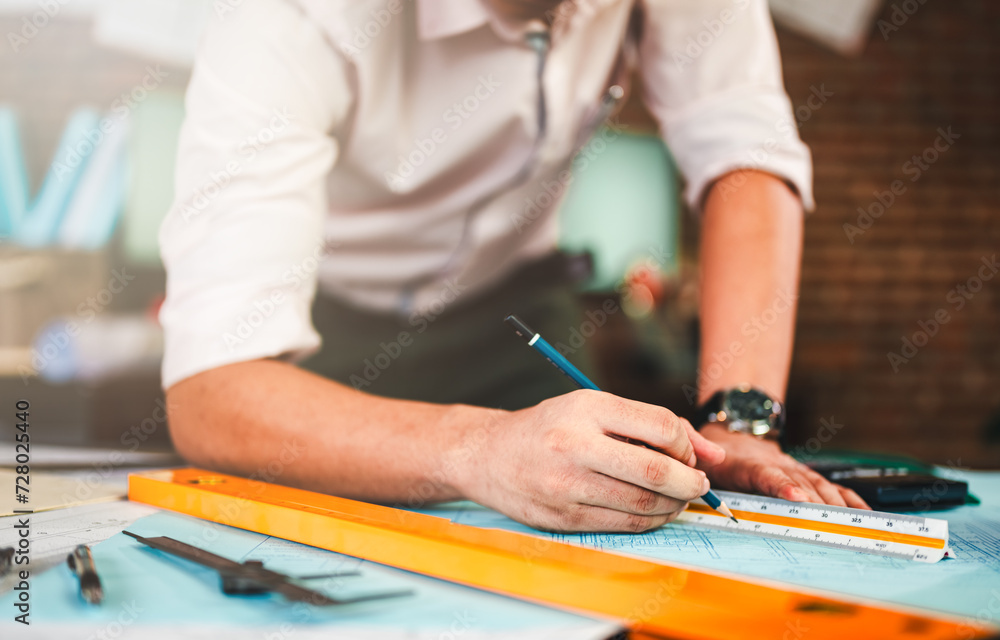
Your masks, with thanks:
[{"label": "white rolled-up shirt sleeve on the arm holding the pencil", "polygon": [[160,229],[165,388],[319,347],[310,309],[338,151],[330,131],[350,102],[343,60],[290,4],[243,3],[210,28]]}]

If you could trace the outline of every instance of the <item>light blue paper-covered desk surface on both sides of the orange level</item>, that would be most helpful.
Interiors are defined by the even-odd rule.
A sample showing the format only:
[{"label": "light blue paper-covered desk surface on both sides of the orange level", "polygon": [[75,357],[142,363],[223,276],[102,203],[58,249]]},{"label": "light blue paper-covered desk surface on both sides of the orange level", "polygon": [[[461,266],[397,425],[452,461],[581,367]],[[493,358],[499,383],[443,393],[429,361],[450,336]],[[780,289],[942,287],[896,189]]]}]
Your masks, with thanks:
[{"label": "light blue paper-covered desk surface on both sides of the orange level", "polygon": [[[1000,473],[961,476],[970,482],[971,490],[983,504],[928,514],[949,521],[951,544],[957,554],[956,559],[936,564],[687,525],[670,525],[642,535],[547,534],[471,503],[443,505],[424,512],[464,524],[523,531],[671,563],[934,609],[997,625],[1000,620]],[[113,508],[107,505],[89,507],[95,513]],[[139,508],[136,517],[145,517],[129,524],[130,518],[119,514],[116,516],[119,520],[115,521],[118,526],[112,525],[104,535],[124,526],[141,535],[171,535],[233,559],[264,560],[269,567],[293,575],[360,568],[361,578],[342,579],[335,584],[321,583],[322,587],[345,595],[400,587],[414,589],[416,594],[391,604],[355,605],[344,610],[311,609],[303,617],[301,608],[289,607],[275,597],[248,601],[223,596],[216,577],[207,570],[192,570],[183,561],[164,560],[126,536],[112,535],[94,548],[98,566],[107,576],[106,604],[100,609],[84,605],[75,591],[75,579],[65,565],[40,576],[36,573],[32,582],[31,633],[24,635],[28,628],[17,625],[18,637],[55,637],[53,634],[56,634],[62,638],[86,638],[94,628],[106,629],[114,625],[130,603],[142,608],[134,629],[143,629],[143,638],[179,637],[181,633],[184,637],[194,637],[191,635],[194,627],[190,625],[214,629],[211,637],[226,637],[229,634],[223,633],[223,629],[242,629],[245,633],[249,625],[259,630],[280,631],[281,625],[292,624],[296,638],[328,634],[331,627],[335,627],[342,637],[345,633],[349,637],[423,637],[427,634],[437,637],[435,634],[454,633],[449,629],[461,629],[464,638],[516,632],[524,640],[531,637],[600,638],[613,629],[606,623],[580,616],[187,516],[165,512],[146,515],[148,508],[130,503],[120,503],[117,508],[126,511]],[[66,532],[58,531],[60,527],[81,527],[79,521],[70,517],[71,511],[46,516],[49,538],[64,535]],[[41,516],[35,517],[41,519]],[[109,519],[114,518],[98,518],[99,521]],[[0,520],[0,544],[11,542],[13,532],[7,525]],[[70,537],[82,535],[69,533]],[[11,593],[0,596],[0,611],[14,611],[13,598]],[[0,619],[0,631],[11,628],[12,617],[10,614]],[[85,633],[86,629],[90,631]],[[159,633],[151,633],[153,629]],[[261,633],[258,637],[267,636]]]}]

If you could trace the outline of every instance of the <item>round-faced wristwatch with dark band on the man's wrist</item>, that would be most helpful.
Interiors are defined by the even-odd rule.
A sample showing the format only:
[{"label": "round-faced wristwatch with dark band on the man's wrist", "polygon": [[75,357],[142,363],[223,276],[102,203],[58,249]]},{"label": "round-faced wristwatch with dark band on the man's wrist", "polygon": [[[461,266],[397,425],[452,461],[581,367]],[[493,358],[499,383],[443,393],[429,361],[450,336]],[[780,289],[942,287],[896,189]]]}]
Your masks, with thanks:
[{"label": "round-faced wristwatch with dark band on the man's wrist", "polygon": [[695,429],[725,423],[730,431],[777,440],[785,426],[785,408],[760,389],[748,384],[716,391],[698,407],[692,420]]}]

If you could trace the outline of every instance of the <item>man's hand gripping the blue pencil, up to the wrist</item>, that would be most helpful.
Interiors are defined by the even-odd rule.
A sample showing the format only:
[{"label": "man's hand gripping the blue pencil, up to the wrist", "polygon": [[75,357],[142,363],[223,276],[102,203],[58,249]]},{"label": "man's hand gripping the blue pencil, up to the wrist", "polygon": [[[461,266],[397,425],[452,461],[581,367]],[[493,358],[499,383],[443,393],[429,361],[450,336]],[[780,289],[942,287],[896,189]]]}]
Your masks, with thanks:
[{"label": "man's hand gripping the blue pencil, up to the wrist", "polygon": [[487,427],[470,428],[456,462],[458,488],[539,529],[656,528],[708,491],[695,463],[725,457],[671,411],[600,391],[575,391],[495,417]]}]

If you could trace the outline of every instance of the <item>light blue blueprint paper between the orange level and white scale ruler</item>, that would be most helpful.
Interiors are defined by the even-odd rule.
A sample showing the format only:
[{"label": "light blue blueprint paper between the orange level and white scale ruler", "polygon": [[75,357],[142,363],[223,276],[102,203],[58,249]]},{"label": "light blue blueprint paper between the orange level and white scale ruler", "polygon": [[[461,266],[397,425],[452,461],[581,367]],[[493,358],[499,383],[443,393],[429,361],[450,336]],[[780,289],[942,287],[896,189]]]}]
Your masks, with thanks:
[{"label": "light blue blueprint paper between the orange level and white scale ruler", "polygon": [[927,512],[947,520],[957,558],[924,564],[865,553],[759,538],[696,525],[669,524],[633,534],[543,533],[473,503],[429,513],[460,524],[531,533],[670,563],[738,573],[960,616],[1000,621],[1000,474],[965,472],[979,506]]}]

